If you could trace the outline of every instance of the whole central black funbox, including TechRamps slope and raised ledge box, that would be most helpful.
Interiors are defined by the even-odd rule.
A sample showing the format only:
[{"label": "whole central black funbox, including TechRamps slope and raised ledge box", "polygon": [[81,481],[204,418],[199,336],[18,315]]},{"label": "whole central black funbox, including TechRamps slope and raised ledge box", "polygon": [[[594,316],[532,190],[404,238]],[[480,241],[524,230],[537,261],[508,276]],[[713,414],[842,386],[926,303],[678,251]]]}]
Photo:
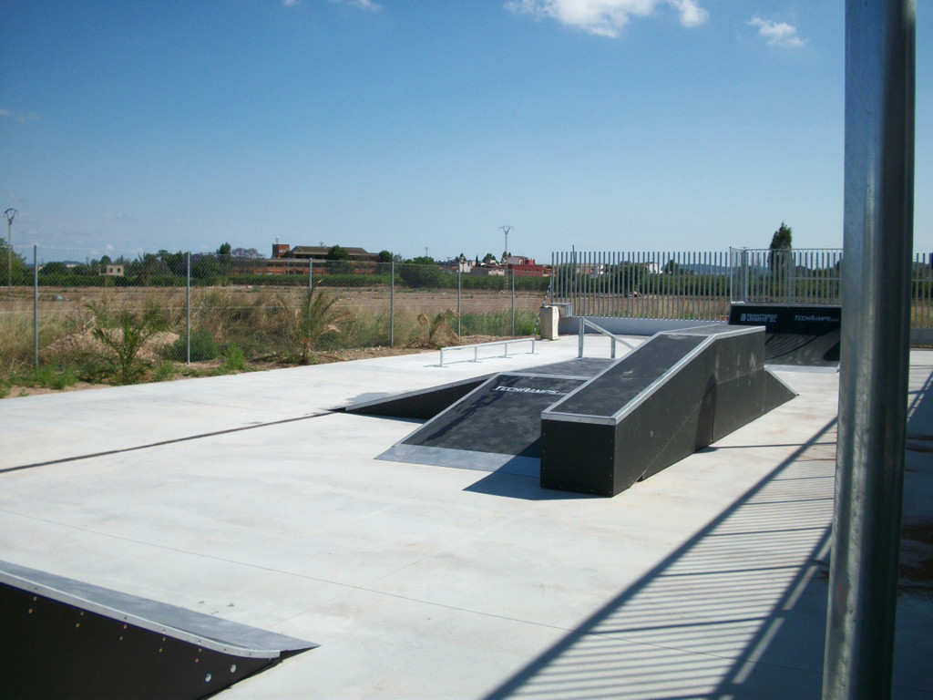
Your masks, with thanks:
[{"label": "whole central black funbox, including TechRamps slope and raised ledge box", "polygon": [[[619,360],[578,359],[480,378],[380,459],[539,476],[615,496],[795,394],[764,368],[764,329],[663,331]],[[452,397],[453,385],[438,387]],[[351,406],[425,402],[425,393]]]}]

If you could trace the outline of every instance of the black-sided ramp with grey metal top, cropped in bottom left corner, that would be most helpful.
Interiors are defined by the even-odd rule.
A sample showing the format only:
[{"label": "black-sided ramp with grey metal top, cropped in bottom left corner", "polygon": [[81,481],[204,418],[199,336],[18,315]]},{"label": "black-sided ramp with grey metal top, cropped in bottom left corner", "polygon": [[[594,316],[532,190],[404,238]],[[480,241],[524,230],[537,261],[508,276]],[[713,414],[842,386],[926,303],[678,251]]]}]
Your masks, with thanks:
[{"label": "black-sided ramp with grey metal top, cropped in bottom left corner", "polygon": [[0,697],[202,698],[316,644],[0,562]]}]

